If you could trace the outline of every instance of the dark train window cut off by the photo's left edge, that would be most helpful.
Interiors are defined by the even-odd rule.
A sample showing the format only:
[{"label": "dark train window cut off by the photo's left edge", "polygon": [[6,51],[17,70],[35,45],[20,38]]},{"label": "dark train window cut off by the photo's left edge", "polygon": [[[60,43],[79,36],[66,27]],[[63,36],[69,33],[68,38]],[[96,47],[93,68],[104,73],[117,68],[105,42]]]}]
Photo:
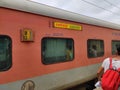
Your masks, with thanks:
[{"label": "dark train window cut off by the photo's left edge", "polygon": [[0,71],[6,71],[12,64],[12,41],[8,36],[0,36]]}]

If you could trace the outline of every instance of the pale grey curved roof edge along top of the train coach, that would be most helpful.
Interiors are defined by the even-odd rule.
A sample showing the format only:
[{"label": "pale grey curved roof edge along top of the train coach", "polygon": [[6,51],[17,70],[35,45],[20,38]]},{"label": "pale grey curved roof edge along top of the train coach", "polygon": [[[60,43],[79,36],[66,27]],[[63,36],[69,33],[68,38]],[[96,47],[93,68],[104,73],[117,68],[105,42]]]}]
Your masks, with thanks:
[{"label": "pale grey curved roof edge along top of the train coach", "polygon": [[119,24],[58,9],[30,0],[0,0],[0,7],[120,30]]}]

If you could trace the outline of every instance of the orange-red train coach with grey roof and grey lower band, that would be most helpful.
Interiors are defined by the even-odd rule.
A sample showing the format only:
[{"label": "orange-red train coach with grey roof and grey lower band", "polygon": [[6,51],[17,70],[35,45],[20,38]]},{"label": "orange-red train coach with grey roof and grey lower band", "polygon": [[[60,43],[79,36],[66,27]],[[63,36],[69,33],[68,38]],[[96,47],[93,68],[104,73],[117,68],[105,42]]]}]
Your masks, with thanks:
[{"label": "orange-red train coach with grey roof and grey lower band", "polygon": [[61,90],[92,80],[120,26],[38,4],[0,1],[0,90]]}]

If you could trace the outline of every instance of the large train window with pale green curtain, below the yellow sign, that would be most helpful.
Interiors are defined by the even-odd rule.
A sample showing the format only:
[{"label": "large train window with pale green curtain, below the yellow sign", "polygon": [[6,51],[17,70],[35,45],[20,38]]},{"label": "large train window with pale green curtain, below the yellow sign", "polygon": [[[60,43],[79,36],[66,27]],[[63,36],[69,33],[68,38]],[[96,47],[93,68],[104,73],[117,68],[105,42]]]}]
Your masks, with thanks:
[{"label": "large train window with pale green curtain, below the yellow sign", "polygon": [[43,38],[42,62],[52,64],[73,60],[73,45],[73,39]]}]

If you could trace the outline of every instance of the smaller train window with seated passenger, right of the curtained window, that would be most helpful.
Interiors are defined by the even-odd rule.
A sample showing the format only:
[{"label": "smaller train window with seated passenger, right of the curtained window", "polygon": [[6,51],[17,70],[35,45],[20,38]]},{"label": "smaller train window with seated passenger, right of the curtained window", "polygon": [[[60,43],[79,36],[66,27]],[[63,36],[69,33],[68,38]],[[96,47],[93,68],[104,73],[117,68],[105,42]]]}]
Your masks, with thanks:
[{"label": "smaller train window with seated passenger, right of the curtained window", "polygon": [[104,55],[103,40],[89,39],[87,41],[87,52],[89,58],[101,57]]}]

